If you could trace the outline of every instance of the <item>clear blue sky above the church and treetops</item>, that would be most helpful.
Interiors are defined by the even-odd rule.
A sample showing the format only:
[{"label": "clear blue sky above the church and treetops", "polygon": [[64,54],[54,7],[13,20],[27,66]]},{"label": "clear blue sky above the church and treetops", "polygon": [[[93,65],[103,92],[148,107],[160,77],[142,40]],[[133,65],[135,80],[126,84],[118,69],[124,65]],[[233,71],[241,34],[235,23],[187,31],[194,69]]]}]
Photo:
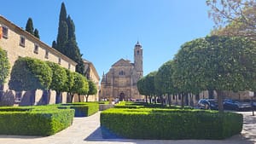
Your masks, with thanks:
[{"label": "clear blue sky above the church and treetops", "polygon": [[172,60],[183,43],[206,37],[214,25],[205,0],[9,0],[0,14],[20,27],[32,17],[40,39],[51,46],[62,2],[76,26],[83,57],[101,78],[117,60],[133,61],[137,40],[143,45],[146,75]]}]

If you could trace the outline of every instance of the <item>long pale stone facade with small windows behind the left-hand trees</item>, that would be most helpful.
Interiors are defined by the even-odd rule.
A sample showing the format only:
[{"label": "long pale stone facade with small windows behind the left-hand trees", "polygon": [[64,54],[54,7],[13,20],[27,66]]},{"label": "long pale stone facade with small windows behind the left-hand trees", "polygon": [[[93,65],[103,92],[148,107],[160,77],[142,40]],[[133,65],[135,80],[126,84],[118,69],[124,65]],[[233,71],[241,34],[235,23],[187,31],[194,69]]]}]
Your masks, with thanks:
[{"label": "long pale stone facade with small windows behind the left-hand trees", "polygon": [[[29,56],[39,60],[53,61],[60,64],[60,66],[75,72],[76,62],[69,59],[67,56],[62,55],[59,51],[49,47],[49,45],[40,41],[29,32],[24,31],[19,26],[15,26],[15,24],[5,19],[2,15],[0,15],[0,27],[0,30],[2,30],[0,33],[0,48],[7,52],[11,67],[19,57]],[[3,86],[3,91],[9,91],[8,81],[9,78],[7,83]],[[21,95],[24,95],[25,93],[26,92],[22,92]],[[40,101],[42,94],[42,90],[37,90],[35,104]],[[51,91],[49,95],[49,103],[55,103],[55,92]],[[62,102],[66,102],[66,96],[67,94],[63,93]],[[21,96],[19,99],[22,98],[23,97]],[[20,100],[16,98],[16,101],[19,102]]]}]

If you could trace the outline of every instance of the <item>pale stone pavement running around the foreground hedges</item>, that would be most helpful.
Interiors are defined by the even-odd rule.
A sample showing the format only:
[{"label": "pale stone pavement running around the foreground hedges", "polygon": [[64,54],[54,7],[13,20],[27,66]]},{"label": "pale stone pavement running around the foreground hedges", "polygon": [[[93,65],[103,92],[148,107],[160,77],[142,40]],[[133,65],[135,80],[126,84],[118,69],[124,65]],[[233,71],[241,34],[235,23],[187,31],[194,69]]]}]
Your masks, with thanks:
[{"label": "pale stone pavement running around the foreground hedges", "polygon": [[0,144],[253,144],[256,143],[256,116],[252,112],[241,112],[244,126],[241,135],[222,141],[208,140],[127,140],[102,139],[100,112],[87,118],[74,118],[73,125],[61,132],[47,136],[0,135]]}]

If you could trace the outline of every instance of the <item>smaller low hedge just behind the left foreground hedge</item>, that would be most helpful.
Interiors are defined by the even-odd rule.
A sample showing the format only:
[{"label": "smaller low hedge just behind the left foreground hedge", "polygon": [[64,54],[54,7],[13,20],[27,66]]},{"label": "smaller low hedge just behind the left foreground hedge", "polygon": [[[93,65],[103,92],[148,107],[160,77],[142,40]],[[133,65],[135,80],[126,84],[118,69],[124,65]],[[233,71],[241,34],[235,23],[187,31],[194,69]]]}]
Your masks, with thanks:
[{"label": "smaller low hedge just behind the left foreground hedge", "polygon": [[75,117],[88,117],[99,111],[99,104],[96,102],[75,102],[61,104],[58,108],[72,108],[75,110]]}]

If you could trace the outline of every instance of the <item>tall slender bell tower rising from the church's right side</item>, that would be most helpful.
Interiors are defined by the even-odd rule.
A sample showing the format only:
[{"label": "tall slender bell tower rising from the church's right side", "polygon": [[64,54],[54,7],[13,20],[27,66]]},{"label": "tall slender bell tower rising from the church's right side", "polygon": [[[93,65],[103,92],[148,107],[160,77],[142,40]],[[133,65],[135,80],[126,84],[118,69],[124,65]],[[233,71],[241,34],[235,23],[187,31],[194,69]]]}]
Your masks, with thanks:
[{"label": "tall slender bell tower rising from the church's right side", "polygon": [[143,47],[137,41],[134,47],[134,66],[139,78],[143,77]]}]

